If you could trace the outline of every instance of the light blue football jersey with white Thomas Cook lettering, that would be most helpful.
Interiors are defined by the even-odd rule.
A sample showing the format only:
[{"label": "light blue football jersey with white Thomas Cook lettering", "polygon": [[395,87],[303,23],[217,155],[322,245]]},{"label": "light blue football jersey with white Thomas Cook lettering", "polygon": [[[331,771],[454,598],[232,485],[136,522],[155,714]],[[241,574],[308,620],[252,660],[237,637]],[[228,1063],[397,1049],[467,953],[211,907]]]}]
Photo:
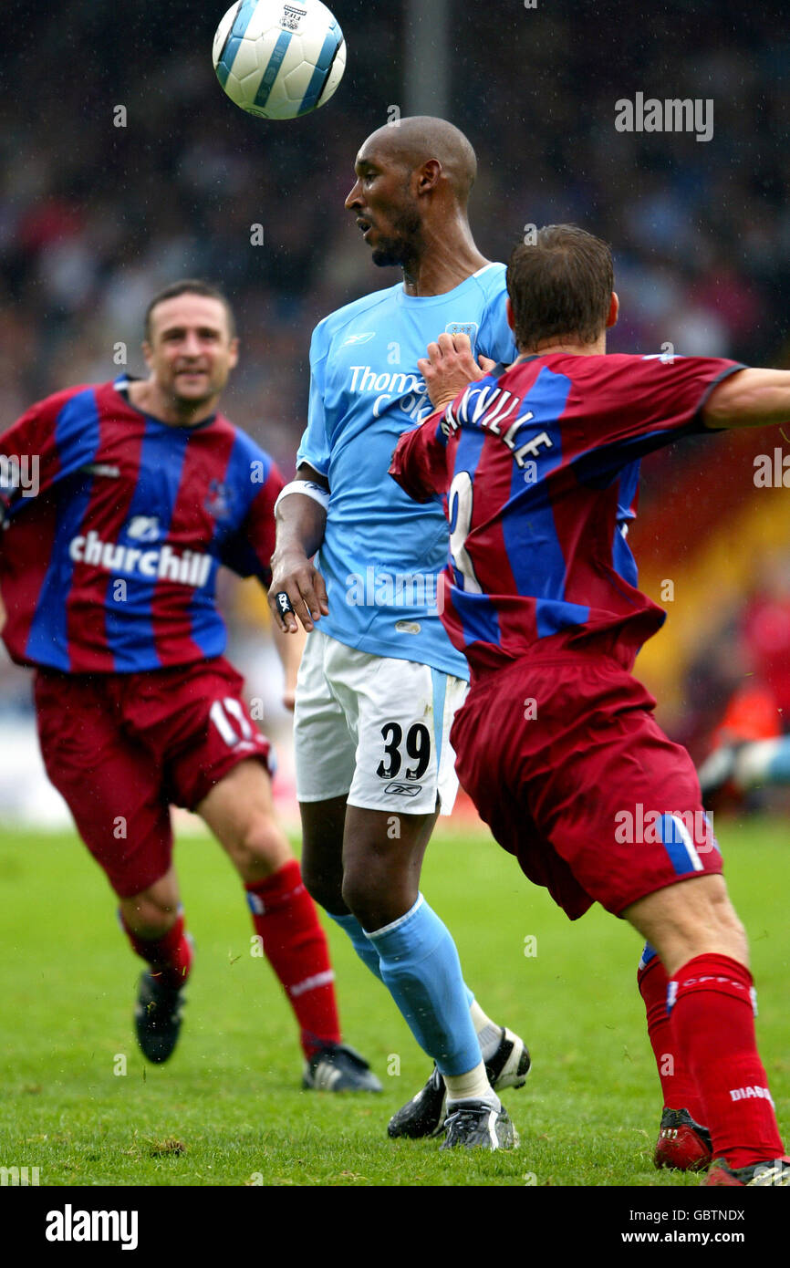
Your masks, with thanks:
[{"label": "light blue football jersey with white Thomas Cook lettering", "polygon": [[476,356],[517,355],[505,314],[505,265],[488,264],[444,295],[398,283],[326,317],[311,344],[311,394],[298,463],[330,482],[317,564],[328,616],[317,628],[374,656],[469,676],[444,633],[436,581],[448,562],[440,501],[417,505],[388,476],[398,436],[432,412],[417,359],[443,331]]}]

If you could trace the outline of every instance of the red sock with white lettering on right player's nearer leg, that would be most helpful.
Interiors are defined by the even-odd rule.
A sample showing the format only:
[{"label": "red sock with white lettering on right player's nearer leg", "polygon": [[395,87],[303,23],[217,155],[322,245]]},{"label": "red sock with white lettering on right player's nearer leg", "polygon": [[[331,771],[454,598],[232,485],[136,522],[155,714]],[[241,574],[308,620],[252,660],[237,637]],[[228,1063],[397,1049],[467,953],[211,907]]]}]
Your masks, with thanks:
[{"label": "red sock with white lettering on right player's nearer leg", "polygon": [[784,1155],[757,1052],[752,975],[725,955],[697,955],[671,981],[676,1050],[694,1074],[713,1156],[733,1167]]}]

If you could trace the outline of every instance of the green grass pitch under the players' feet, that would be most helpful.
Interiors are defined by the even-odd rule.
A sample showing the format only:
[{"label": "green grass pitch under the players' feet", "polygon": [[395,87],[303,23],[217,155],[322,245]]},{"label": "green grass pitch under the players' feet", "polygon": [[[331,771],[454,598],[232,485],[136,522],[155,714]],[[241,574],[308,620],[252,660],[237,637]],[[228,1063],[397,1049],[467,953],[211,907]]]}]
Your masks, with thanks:
[{"label": "green grass pitch under the players' feet", "polygon": [[[787,1134],[787,829],[719,828]],[[42,1186],[699,1184],[651,1165],[661,1097],[637,935],[601,910],[571,924],[489,837],[440,828],[422,888],[486,1011],[533,1050],[526,1087],[505,1094],[521,1135],[506,1154],[387,1139],[430,1063],[335,927],[345,1036],[384,1092],[302,1092],[295,1028],[268,962],[250,954],[237,879],[210,839],[181,839],[176,861],[195,970],[179,1049],[146,1068],[132,1033],[139,965],[104,877],[71,834],[0,832],[0,1165],[38,1167]]]}]

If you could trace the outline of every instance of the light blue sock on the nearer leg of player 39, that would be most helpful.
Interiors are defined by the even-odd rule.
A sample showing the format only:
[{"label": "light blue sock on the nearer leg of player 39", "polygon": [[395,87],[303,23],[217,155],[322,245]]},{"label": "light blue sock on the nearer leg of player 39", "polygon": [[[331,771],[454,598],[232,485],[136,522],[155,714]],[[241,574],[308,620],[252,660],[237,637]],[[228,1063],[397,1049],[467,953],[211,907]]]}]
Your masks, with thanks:
[{"label": "light blue sock on the nearer leg of player 39", "polygon": [[481,1061],[469,992],[449,929],[422,894],[398,921],[368,933],[382,980],[424,1051],[443,1074],[465,1074]]}]

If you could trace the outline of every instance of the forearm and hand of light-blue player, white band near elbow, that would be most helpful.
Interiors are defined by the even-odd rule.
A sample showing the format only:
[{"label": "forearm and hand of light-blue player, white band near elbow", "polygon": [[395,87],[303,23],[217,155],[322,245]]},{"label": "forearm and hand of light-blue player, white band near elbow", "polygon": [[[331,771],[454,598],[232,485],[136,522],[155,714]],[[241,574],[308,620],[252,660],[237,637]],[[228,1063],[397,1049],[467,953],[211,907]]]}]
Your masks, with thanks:
[{"label": "forearm and hand of light-blue player, white band near elbow", "polygon": [[[301,489],[299,484],[304,488]],[[323,577],[311,563],[323,541],[328,493],[326,477],[302,463],[295,481],[285,486],[275,506],[276,543],[271,555],[269,606],[278,626],[287,634],[295,634],[299,629],[295,616],[309,633],[314,621],[328,615]],[[280,612],[276,605],[276,596],[283,591],[290,600],[293,612]]]}]

